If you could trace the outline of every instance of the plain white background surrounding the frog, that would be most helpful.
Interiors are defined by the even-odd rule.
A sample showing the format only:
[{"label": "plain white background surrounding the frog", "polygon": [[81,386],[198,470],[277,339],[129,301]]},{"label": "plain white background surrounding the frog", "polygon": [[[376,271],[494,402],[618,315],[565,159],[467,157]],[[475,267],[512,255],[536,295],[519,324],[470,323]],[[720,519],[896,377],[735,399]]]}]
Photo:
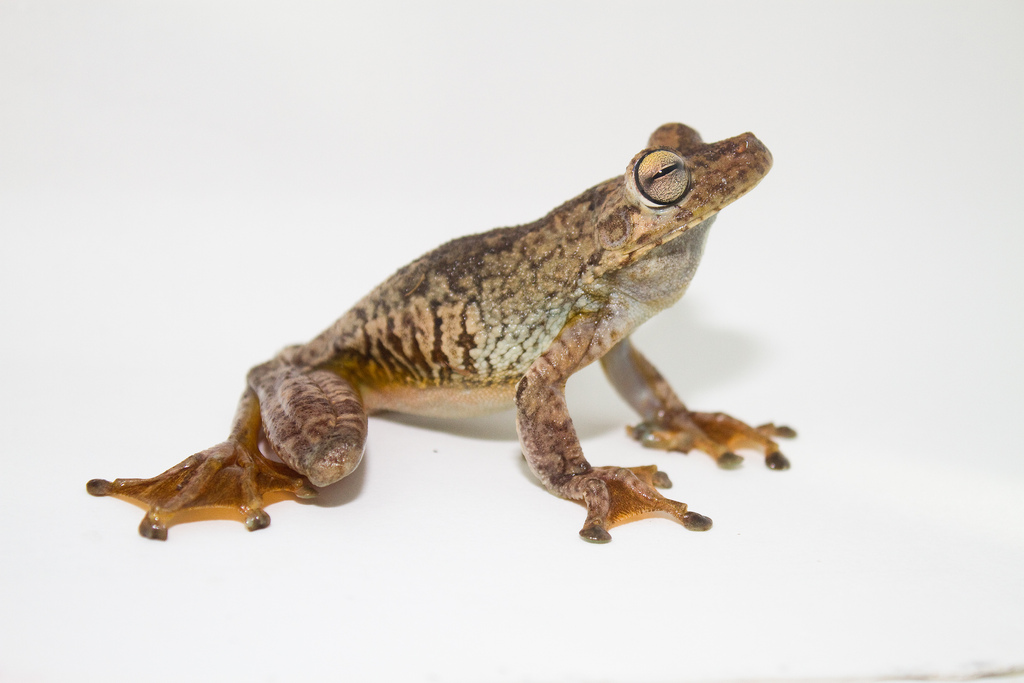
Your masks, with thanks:
[{"label": "plain white background surrounding the frog", "polygon": [[[372,7],[370,5],[373,5]],[[1020,3],[0,1],[0,681],[734,681],[1024,667]],[[511,414],[374,418],[272,525],[85,493],[221,440],[247,369],[667,121],[768,178],[636,342],[788,472],[595,464],[714,518],[582,542]]]}]

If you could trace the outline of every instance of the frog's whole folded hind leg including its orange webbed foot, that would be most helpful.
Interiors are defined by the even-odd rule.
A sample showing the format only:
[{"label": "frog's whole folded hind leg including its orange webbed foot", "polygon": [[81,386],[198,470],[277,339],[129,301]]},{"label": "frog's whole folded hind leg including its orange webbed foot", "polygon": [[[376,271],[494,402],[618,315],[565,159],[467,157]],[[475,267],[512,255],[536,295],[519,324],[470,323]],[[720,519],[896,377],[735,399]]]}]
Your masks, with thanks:
[{"label": "frog's whole folded hind leg including its orange webbed foot", "polygon": [[[306,477],[324,485],[354,469],[366,427],[358,394],[345,380],[327,371],[270,361],[250,372],[227,440],[156,477],[93,479],[86,489],[146,506],[139,533],[150,539],[166,540],[173,518],[194,509],[238,510],[246,527],[256,530],[270,523],[263,510],[268,494],[312,498],[316,492]],[[260,454],[261,436],[287,467]]]}]

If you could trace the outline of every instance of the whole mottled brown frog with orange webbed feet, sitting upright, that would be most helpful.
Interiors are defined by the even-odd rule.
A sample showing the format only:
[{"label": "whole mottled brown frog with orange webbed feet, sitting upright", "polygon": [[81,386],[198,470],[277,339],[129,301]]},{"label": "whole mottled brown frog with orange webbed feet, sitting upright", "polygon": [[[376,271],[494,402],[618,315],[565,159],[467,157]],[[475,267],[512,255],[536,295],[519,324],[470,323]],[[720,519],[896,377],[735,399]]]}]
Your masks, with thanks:
[{"label": "whole mottled brown frog with orange webbed feet, sitting upright", "polygon": [[530,472],[586,509],[585,541],[608,542],[609,528],[648,516],[707,530],[710,517],[662,495],[672,481],[657,466],[591,465],[565,384],[599,361],[639,415],[627,434],[642,446],[703,452],[724,469],[748,450],[772,470],[790,467],[776,438],[792,428],[689,410],[631,341],[686,292],[718,213],[771,167],[753,133],[708,143],[684,124],[660,126],[623,175],[531,223],[443,244],[308,343],[250,370],[226,440],[156,477],[92,479],[86,489],[145,508],[147,539],[211,508],[236,510],[256,530],[270,523],[268,500],[312,498],[358,467],[368,416],[514,409]]}]

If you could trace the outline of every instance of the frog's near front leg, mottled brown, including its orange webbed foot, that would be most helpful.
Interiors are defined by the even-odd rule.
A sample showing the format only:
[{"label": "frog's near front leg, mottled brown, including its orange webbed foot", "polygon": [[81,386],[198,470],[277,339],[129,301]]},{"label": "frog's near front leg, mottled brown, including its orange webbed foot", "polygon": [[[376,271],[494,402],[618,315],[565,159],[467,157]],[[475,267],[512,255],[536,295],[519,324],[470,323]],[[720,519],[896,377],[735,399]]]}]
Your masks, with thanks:
[{"label": "frog's near front leg, mottled brown, including its orange webbed foot", "polygon": [[654,489],[672,485],[656,467],[592,467],[584,458],[565,404],[565,381],[600,353],[595,348],[597,327],[594,319],[571,323],[516,387],[516,429],[530,470],[549,490],[587,507],[580,531],[587,541],[610,541],[610,526],[656,512],[672,515],[692,530],[711,528],[711,519]]}]

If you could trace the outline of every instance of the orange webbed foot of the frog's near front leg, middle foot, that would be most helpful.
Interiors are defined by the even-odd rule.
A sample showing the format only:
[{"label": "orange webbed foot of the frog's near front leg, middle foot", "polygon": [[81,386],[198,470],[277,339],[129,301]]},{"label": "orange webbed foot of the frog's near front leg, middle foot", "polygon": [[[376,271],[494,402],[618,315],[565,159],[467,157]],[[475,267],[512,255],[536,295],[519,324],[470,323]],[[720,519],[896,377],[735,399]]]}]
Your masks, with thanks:
[{"label": "orange webbed foot of the frog's near front leg, middle foot", "polygon": [[573,477],[565,493],[587,506],[587,521],[580,536],[591,543],[607,543],[611,541],[611,526],[657,513],[671,515],[692,531],[711,528],[711,518],[691,512],[685,503],[665,498],[655,486],[669,488],[672,481],[654,465],[595,467]]}]

